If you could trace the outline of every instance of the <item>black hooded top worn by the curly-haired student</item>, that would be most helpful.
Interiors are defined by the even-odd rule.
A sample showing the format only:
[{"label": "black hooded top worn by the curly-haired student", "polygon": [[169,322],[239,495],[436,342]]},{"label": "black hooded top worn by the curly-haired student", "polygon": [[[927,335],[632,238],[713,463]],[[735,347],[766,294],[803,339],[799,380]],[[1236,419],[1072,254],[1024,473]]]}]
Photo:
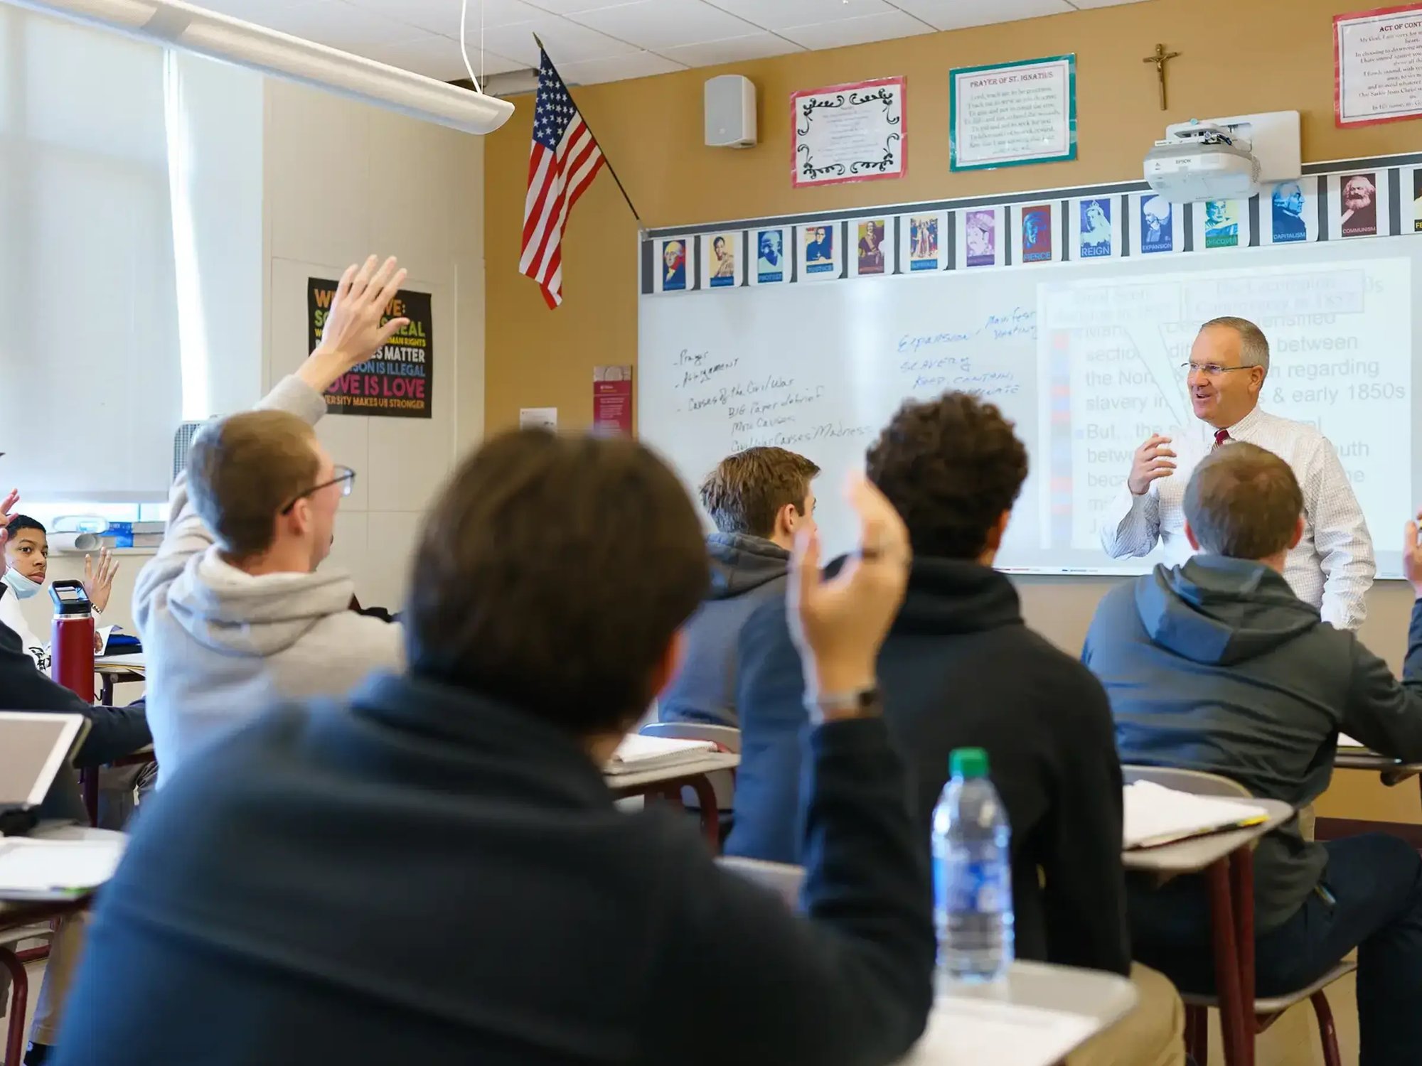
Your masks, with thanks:
[{"label": "black hooded top worn by the curly-haired student", "polygon": [[[784,600],[745,624],[741,681],[727,851],[796,863],[808,719]],[[948,755],[987,749],[1012,830],[1018,958],[1128,972],[1121,766],[1095,678],[1027,628],[1007,577],[919,557],[879,654],[879,684],[889,732],[909,763],[923,854]]]}]

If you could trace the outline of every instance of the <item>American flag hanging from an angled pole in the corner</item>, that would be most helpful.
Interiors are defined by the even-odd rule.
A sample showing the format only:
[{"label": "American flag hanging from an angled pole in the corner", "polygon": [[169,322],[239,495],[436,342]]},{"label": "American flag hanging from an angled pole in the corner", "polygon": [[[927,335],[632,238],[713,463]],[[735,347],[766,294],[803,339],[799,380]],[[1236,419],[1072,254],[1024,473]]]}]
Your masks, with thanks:
[{"label": "American flag hanging from an angled pole in the corner", "polygon": [[567,95],[567,85],[542,51],[519,273],[539,283],[549,307],[563,303],[562,240],[567,213],[602,166],[602,149]]}]

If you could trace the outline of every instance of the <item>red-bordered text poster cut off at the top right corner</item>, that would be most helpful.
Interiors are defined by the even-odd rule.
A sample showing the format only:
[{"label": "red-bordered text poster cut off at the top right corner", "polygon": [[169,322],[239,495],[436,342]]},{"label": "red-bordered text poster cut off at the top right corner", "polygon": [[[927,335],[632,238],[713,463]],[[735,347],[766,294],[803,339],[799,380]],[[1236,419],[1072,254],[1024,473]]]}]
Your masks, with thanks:
[{"label": "red-bordered text poster cut off at the top right corner", "polygon": [[1341,126],[1422,115],[1422,4],[1334,16],[1334,118]]}]

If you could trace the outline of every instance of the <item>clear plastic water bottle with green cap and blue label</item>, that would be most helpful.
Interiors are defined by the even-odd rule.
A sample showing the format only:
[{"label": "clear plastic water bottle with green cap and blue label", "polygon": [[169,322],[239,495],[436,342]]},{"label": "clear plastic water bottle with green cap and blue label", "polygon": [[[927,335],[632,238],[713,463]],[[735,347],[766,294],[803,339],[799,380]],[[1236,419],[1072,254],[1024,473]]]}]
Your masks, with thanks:
[{"label": "clear plastic water bottle with green cap and blue label", "polygon": [[958,748],[933,809],[933,920],[939,976],[984,984],[1012,965],[1011,829],[987,752]]}]

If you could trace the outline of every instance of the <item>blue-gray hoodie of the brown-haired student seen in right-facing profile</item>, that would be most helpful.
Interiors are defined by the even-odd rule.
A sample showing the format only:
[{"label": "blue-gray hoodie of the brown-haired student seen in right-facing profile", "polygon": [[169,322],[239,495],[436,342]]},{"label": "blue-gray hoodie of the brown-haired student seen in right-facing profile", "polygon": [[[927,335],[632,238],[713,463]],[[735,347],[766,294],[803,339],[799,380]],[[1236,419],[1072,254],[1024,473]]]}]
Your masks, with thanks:
[{"label": "blue-gray hoodie of the brown-haired student seen in right-facing profile", "polygon": [[712,533],[711,590],[684,632],[685,655],[675,679],[661,694],[663,722],[738,728],[735,711],[737,642],[751,611],[785,596],[791,553],[764,537]]}]

